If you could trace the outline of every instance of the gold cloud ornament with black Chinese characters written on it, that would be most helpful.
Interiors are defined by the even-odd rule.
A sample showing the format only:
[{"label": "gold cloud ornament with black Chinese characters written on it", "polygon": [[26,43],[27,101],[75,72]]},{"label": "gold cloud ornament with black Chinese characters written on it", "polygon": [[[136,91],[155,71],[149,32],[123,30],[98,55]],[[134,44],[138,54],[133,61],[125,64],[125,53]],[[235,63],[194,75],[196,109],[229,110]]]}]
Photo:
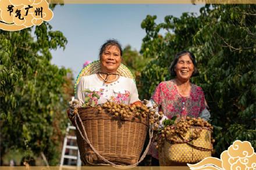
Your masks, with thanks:
[{"label": "gold cloud ornament with black Chinese characters written on it", "polygon": [[54,13],[46,0],[0,0],[0,28],[18,31],[49,21]]}]

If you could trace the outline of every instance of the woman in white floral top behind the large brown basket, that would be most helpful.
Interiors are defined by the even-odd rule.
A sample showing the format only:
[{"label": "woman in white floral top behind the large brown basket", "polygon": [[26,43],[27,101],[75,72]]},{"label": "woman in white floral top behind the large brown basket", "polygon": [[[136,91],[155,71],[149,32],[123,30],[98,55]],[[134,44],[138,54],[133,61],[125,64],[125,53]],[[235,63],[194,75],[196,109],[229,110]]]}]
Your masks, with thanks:
[{"label": "woman in white floral top behind the large brown basket", "polygon": [[118,41],[108,40],[99,52],[101,69],[97,74],[81,77],[76,89],[80,106],[97,105],[107,101],[139,104],[138,91],[133,79],[117,73],[122,60],[122,48]]}]

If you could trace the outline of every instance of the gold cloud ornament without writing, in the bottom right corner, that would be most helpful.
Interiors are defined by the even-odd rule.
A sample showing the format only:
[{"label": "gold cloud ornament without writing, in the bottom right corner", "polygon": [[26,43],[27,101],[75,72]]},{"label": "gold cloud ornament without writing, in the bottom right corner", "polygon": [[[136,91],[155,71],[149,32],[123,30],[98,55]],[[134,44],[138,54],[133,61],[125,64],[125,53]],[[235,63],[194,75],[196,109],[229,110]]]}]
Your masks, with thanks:
[{"label": "gold cloud ornament without writing, in the bottom right corner", "polygon": [[251,143],[236,140],[232,146],[222,152],[221,159],[208,157],[197,164],[187,164],[192,170],[252,170],[256,169],[256,153]]}]

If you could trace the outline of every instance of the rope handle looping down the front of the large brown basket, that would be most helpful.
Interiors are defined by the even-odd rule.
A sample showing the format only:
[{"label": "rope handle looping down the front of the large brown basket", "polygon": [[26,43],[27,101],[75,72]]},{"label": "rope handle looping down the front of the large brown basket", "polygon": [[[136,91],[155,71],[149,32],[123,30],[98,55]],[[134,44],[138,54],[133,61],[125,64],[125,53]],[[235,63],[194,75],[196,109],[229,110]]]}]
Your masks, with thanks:
[{"label": "rope handle looping down the front of the large brown basket", "polygon": [[[80,122],[80,124],[81,124],[81,126],[82,126],[82,128],[83,128],[85,138],[84,138],[82,132],[80,131],[79,126],[77,125],[77,118],[78,118],[78,120],[79,120],[79,122]],[[144,160],[145,156],[147,155],[148,149],[150,148],[151,140],[152,140],[152,137],[153,137],[153,130],[152,130],[151,128],[149,128],[148,132],[150,133],[150,141],[148,142],[148,145],[147,145],[147,147],[146,147],[146,149],[145,149],[145,151],[144,151],[144,153],[143,153],[143,155],[141,156],[141,158],[140,158],[139,161],[137,161],[137,162],[136,162],[135,164],[133,164],[133,165],[127,165],[127,166],[126,166],[126,165],[117,165],[117,164],[115,164],[115,163],[113,163],[113,162],[111,162],[111,161],[106,160],[106,158],[102,157],[102,155],[99,154],[98,151],[97,151],[97,150],[93,147],[93,145],[90,143],[90,140],[88,139],[88,136],[87,136],[87,133],[86,133],[86,129],[84,128],[83,122],[81,121],[81,118],[80,118],[79,114],[76,114],[76,115],[74,116],[74,123],[76,124],[76,128],[77,128],[77,130],[79,131],[81,137],[82,137],[84,140],[86,140],[86,142],[90,145],[90,147],[91,147],[91,149],[94,151],[94,153],[97,154],[98,157],[101,158],[103,161],[105,161],[106,163],[108,163],[108,164],[91,164],[91,165],[112,165],[112,166],[115,167],[115,168],[122,168],[122,169],[136,167],[141,161]]]}]

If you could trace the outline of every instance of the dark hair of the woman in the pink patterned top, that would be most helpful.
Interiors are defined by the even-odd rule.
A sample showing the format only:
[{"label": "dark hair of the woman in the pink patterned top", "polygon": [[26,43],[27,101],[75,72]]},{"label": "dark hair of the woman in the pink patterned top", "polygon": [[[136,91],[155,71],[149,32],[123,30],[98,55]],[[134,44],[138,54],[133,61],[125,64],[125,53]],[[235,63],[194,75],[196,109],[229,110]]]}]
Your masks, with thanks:
[{"label": "dark hair of the woman in the pink patterned top", "polygon": [[194,64],[194,72],[193,72],[193,74],[191,75],[191,77],[199,75],[199,71],[198,71],[198,69],[197,69],[197,63],[195,62],[195,56],[194,56],[193,53],[191,53],[189,50],[183,50],[183,51],[181,51],[181,52],[178,52],[178,53],[175,55],[175,57],[174,57],[172,63],[170,64],[170,75],[176,76],[176,72],[175,72],[176,64],[177,64],[179,58],[182,57],[182,56],[184,56],[184,55],[189,55],[189,56],[190,56],[190,59],[192,60],[192,62],[193,62],[193,64]]}]

